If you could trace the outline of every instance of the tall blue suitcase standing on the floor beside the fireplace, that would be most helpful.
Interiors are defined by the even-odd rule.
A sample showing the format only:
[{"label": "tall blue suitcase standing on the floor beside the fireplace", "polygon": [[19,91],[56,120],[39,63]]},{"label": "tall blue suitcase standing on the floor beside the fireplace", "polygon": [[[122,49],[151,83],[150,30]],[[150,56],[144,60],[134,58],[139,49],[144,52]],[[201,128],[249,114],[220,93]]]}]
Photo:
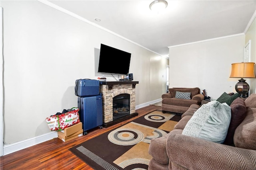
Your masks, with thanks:
[{"label": "tall blue suitcase standing on the floor beside the fireplace", "polygon": [[102,96],[78,97],[79,117],[82,122],[84,135],[95,127],[102,129],[103,108]]}]

